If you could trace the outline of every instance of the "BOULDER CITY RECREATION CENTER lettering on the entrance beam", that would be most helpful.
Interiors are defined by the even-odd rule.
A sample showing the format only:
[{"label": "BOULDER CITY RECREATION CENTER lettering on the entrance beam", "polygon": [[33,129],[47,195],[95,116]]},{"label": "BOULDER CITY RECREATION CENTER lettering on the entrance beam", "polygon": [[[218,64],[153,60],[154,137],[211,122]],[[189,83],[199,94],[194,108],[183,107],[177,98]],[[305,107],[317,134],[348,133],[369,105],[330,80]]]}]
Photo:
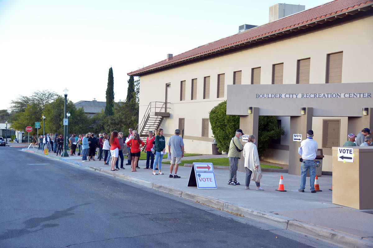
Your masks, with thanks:
[{"label": "BOULDER CITY RECREATION CENTER lettering on the entrance beam", "polygon": [[371,93],[279,93],[256,94],[256,98],[372,98]]}]

